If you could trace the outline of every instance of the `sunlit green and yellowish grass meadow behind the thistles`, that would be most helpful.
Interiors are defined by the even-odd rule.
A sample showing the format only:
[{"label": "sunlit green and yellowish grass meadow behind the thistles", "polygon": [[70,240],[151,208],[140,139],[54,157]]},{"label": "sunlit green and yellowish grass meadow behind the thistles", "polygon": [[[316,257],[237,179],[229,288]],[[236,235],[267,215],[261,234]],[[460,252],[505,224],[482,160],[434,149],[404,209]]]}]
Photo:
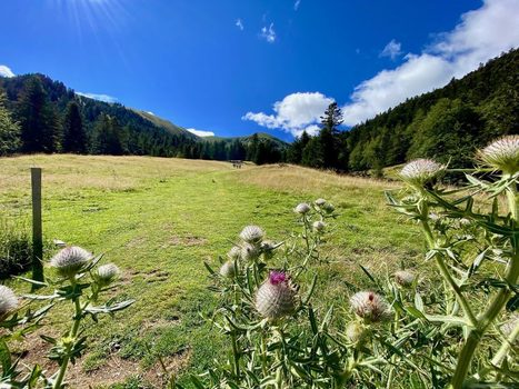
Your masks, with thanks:
[{"label": "sunlit green and yellowish grass meadow behind the thistles", "polygon": [[[0,159],[0,212],[29,218],[32,166],[43,168],[46,238],[104,252],[122,270],[113,296],[137,299],[88,330],[88,351],[70,371],[73,388],[157,386],[157,355],[183,381],[213,363],[226,345],[200,317],[216,306],[203,261],[218,263],[247,225],[282,240],[299,228],[292,209],[301,201],[322,197],[339,213],[325,246],[330,262],[317,269],[318,309],[330,301],[347,309],[352,286],[368,282],[359,263],[378,275],[402,262],[425,266],[418,229],[386,206],[383,190],[397,183],[292,166],[237,170],[198,160],[30,156]],[[54,315],[54,327],[63,319]],[[19,348],[26,360],[43,360],[38,337]]]}]

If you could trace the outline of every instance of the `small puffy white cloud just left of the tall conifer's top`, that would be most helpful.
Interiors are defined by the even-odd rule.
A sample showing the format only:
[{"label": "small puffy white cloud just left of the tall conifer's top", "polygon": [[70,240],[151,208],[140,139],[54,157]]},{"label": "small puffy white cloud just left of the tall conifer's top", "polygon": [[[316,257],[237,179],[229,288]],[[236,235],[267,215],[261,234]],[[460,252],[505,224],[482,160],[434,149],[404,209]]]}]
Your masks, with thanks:
[{"label": "small puffy white cloud just left of the tall conifer's top", "polygon": [[319,92],[297,92],[275,102],[273,114],[247,112],[241,119],[270,129],[280,128],[295,137],[303,130],[316,133],[319,130],[317,123],[333,99]]}]

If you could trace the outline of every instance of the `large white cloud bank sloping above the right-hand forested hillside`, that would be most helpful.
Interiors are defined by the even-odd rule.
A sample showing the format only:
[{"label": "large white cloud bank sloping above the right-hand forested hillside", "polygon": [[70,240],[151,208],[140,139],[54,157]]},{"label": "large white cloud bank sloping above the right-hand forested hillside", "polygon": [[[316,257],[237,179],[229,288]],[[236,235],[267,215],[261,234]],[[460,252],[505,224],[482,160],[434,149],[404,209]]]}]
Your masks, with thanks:
[{"label": "large white cloud bank sloping above the right-hand forested hillside", "polygon": [[392,70],[382,70],[361,82],[342,109],[345,124],[372,118],[416,94],[461,78],[479,63],[519,47],[519,0],[486,0],[477,10],[461,16],[452,31],[437,36],[420,54],[408,54]]}]

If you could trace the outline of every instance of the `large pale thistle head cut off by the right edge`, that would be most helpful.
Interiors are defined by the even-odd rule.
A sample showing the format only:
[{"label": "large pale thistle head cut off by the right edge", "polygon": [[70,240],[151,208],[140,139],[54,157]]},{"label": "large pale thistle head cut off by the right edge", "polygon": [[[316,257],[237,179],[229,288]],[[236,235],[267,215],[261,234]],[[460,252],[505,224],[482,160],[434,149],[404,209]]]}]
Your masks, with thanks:
[{"label": "large pale thistle head cut off by the right edge", "polygon": [[519,136],[507,136],[495,140],[478,152],[487,166],[513,174],[519,171]]}]

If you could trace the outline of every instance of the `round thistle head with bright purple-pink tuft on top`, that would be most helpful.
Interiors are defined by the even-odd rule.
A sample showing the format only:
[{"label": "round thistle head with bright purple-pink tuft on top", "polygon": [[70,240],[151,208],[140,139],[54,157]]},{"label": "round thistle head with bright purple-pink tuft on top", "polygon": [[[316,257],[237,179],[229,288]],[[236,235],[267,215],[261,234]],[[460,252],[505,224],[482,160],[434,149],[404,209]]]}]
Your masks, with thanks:
[{"label": "round thistle head with bright purple-pink tuft on top", "polygon": [[256,293],[256,309],[267,319],[279,319],[296,309],[296,289],[286,273],[271,271]]}]

